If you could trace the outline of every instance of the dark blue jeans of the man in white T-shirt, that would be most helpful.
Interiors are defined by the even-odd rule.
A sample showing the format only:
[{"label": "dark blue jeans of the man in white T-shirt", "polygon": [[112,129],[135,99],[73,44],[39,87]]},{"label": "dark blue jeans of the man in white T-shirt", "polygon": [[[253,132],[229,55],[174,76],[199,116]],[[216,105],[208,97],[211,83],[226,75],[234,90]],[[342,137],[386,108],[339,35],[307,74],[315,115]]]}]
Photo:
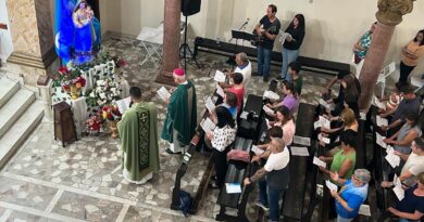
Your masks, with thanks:
[{"label": "dark blue jeans of the man in white T-shirt", "polygon": [[266,180],[261,180],[259,185],[259,198],[262,205],[270,206],[270,220],[279,220],[279,198],[284,195],[285,190],[273,190],[266,184]]}]

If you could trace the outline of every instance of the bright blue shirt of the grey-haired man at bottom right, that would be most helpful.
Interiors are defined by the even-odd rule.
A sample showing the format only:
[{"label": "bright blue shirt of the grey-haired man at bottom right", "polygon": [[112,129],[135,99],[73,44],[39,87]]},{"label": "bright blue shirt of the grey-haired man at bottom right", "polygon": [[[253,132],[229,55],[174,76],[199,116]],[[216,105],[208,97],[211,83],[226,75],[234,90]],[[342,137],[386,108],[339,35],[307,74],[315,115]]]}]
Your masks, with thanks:
[{"label": "bright blue shirt of the grey-haired man at bottom right", "polygon": [[341,218],[353,219],[358,216],[359,208],[365,201],[366,195],[369,193],[369,184],[364,186],[356,186],[352,183],[352,180],[348,180],[345,183],[344,191],[340,194],[340,197],[348,203],[348,207],[353,209],[348,211],[345,209],[339,201],[336,200],[336,211],[337,214]]}]

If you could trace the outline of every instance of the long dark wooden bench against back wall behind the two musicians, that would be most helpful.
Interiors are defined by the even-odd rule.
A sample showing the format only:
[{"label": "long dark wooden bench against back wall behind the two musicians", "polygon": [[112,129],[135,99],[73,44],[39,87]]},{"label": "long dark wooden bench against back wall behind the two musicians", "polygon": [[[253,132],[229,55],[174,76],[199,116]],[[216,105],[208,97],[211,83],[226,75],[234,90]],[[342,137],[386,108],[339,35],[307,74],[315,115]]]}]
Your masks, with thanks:
[{"label": "long dark wooden bench against back wall behind the two musicians", "polygon": [[[195,40],[195,52],[194,56],[198,54],[199,51],[210,52],[214,54],[220,54],[224,56],[230,56],[238,52],[245,52],[251,61],[257,61],[257,48],[237,45],[229,42],[220,43],[216,40],[197,37]],[[271,53],[271,63],[273,65],[280,66],[283,56],[280,52],[272,51]],[[349,64],[338,63],[332,61],[324,61],[313,57],[299,56],[298,60],[302,64],[302,69],[313,70],[315,73],[337,75],[338,73],[349,73]]]}]

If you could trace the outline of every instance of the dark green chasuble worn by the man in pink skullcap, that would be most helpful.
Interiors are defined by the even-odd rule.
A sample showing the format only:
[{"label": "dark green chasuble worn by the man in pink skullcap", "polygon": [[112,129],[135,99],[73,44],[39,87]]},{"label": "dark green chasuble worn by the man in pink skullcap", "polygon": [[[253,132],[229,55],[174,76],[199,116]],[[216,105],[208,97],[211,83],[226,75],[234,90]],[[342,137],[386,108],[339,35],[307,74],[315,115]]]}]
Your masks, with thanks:
[{"label": "dark green chasuble worn by the man in pink skullcap", "polygon": [[173,130],[180,145],[189,145],[197,126],[196,90],[191,81],[178,84],[167,105],[166,119],[161,138],[174,143]]}]

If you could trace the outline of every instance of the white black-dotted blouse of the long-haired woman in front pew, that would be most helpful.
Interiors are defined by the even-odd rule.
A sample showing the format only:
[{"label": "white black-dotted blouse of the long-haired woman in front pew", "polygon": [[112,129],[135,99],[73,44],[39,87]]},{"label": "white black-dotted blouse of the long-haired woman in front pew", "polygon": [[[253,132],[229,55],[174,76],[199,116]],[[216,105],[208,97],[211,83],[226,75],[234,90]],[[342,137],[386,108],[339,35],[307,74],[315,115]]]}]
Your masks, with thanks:
[{"label": "white black-dotted blouse of the long-haired woman in front pew", "polygon": [[213,130],[212,147],[216,151],[224,151],[229,144],[236,140],[237,128],[230,128],[228,125],[224,128],[215,128]]}]

